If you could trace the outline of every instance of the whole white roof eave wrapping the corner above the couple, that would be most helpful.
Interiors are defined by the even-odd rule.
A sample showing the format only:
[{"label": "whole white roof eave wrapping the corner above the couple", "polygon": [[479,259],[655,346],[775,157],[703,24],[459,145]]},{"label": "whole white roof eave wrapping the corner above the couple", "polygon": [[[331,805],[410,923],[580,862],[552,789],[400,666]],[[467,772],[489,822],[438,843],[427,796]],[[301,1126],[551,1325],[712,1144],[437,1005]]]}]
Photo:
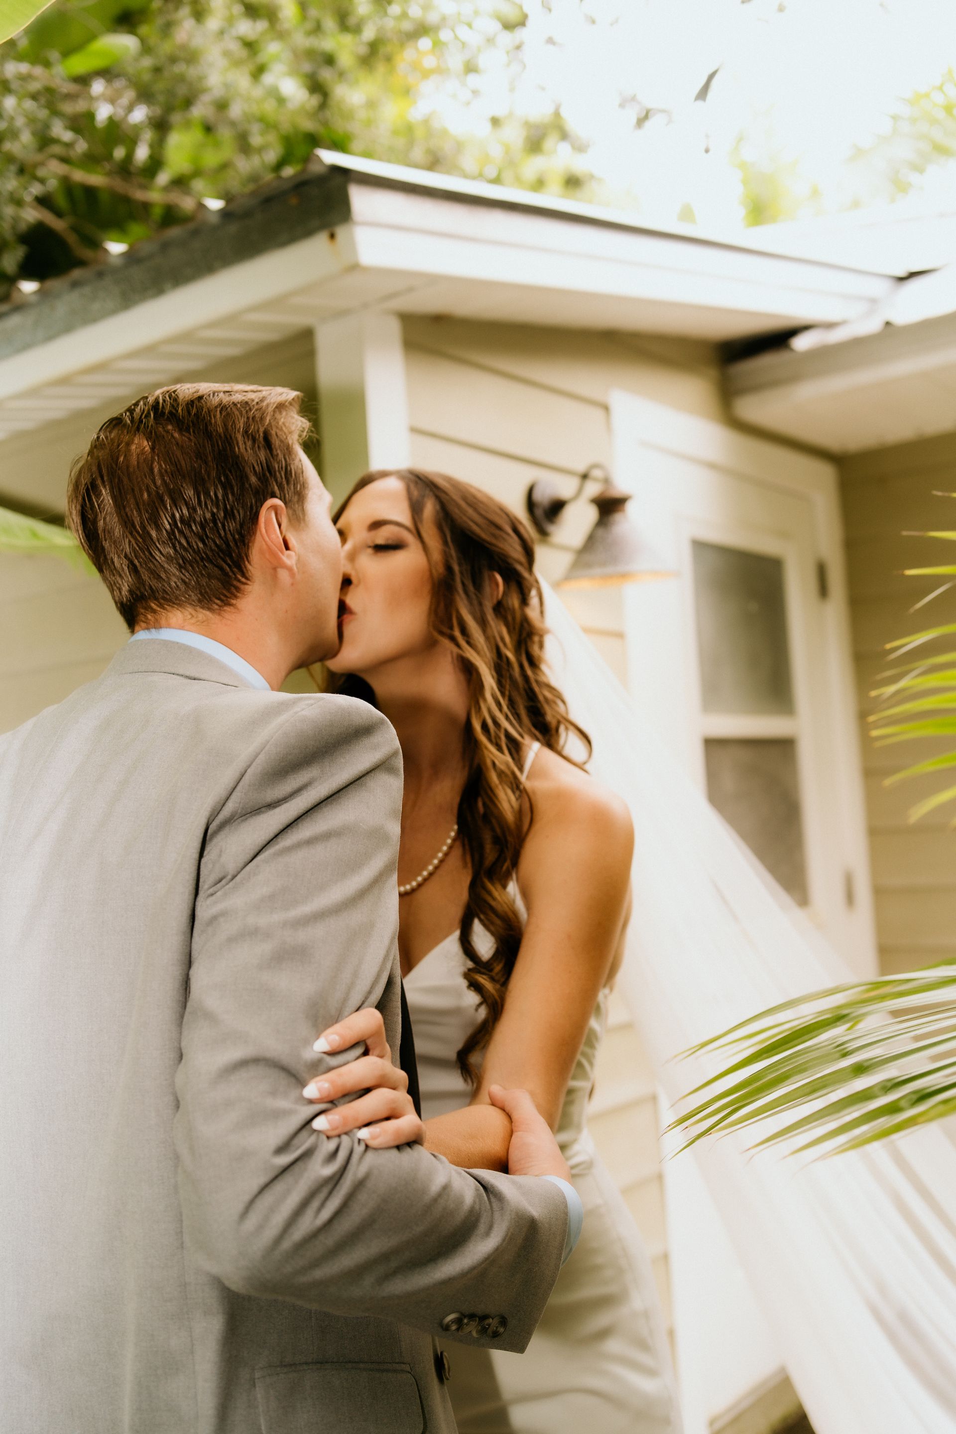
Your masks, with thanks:
[{"label": "whole white roof eave wrapping the corner above the couple", "polygon": [[720,341],[851,321],[883,275],[322,155],[353,218],[0,358],[0,439],[358,308]]}]

